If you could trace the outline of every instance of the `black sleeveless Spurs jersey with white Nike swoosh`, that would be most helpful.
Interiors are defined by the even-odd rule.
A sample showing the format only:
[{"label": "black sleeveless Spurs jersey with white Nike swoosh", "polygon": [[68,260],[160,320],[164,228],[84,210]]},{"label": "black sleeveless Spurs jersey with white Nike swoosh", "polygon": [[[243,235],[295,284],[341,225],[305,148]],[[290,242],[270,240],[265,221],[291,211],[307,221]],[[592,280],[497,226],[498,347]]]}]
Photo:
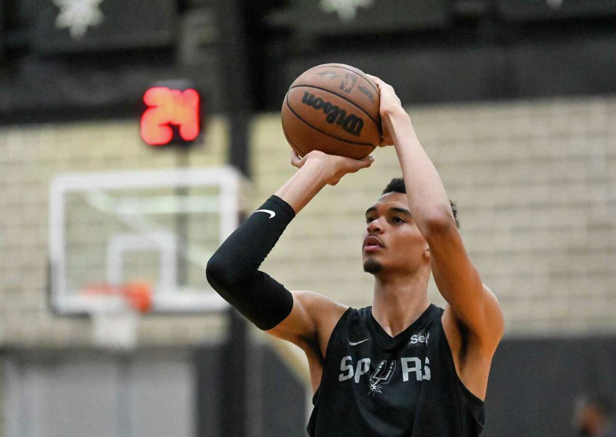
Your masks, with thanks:
[{"label": "black sleeveless Spurs jersey with white Nike swoosh", "polygon": [[347,309],[327,345],[309,436],[479,435],[484,402],[456,374],[443,312],[430,304],[392,338],[371,306]]}]

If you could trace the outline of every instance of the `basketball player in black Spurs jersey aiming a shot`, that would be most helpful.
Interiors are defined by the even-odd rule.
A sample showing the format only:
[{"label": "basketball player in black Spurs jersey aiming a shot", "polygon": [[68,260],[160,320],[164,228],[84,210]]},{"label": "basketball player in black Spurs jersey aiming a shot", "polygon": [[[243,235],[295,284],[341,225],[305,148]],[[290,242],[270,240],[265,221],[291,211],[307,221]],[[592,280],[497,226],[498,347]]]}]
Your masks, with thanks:
[{"label": "basketball player in black Spurs jersey aiming a shot", "polygon": [[[370,157],[291,152],[299,170],[222,243],[208,281],[257,327],[305,351],[315,391],[310,436],[477,436],[503,316],[394,89],[371,78],[381,92],[383,145],[394,144],[403,174],[366,211],[362,259],[375,277],[372,306],[289,292],[258,270],[317,192],[369,167]],[[445,309],[428,301],[431,273]]]}]

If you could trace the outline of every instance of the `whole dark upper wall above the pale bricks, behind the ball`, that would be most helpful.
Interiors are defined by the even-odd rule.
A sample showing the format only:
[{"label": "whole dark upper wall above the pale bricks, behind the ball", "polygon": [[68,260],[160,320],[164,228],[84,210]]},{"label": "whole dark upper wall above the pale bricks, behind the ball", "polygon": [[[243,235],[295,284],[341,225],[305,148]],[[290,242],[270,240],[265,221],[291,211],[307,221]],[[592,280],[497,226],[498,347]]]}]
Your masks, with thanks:
[{"label": "whole dark upper wall above the pale bricks, behind the ball", "polygon": [[343,62],[407,104],[616,91],[616,0],[374,0],[350,23],[318,1],[105,0],[79,41],[47,0],[0,0],[0,122],[124,118],[182,77],[211,112],[275,111],[296,76]]}]

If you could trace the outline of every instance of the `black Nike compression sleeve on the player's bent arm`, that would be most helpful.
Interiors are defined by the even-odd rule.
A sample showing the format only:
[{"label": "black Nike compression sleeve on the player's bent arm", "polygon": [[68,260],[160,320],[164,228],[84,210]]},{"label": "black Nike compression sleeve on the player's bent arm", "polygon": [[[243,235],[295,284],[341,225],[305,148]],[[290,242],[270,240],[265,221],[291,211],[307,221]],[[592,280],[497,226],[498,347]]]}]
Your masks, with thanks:
[{"label": "black Nike compression sleeve on the player's bent arm", "polygon": [[206,268],[214,290],[262,330],[275,327],[293,308],[289,290],[258,269],[294,217],[291,205],[272,195],[229,235]]}]

